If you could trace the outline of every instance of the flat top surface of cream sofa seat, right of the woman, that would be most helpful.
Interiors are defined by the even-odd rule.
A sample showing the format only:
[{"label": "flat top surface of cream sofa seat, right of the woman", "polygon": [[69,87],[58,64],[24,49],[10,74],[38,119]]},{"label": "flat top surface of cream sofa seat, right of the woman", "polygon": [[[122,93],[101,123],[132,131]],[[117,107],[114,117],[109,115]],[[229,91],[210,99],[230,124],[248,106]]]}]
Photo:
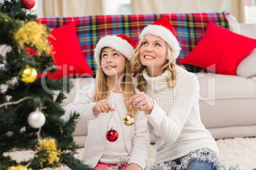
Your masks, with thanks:
[{"label": "flat top surface of cream sofa seat, right of the woman", "polygon": [[[200,100],[255,98],[255,82],[237,75],[199,72]],[[246,87],[246,88],[245,88]]]}]

